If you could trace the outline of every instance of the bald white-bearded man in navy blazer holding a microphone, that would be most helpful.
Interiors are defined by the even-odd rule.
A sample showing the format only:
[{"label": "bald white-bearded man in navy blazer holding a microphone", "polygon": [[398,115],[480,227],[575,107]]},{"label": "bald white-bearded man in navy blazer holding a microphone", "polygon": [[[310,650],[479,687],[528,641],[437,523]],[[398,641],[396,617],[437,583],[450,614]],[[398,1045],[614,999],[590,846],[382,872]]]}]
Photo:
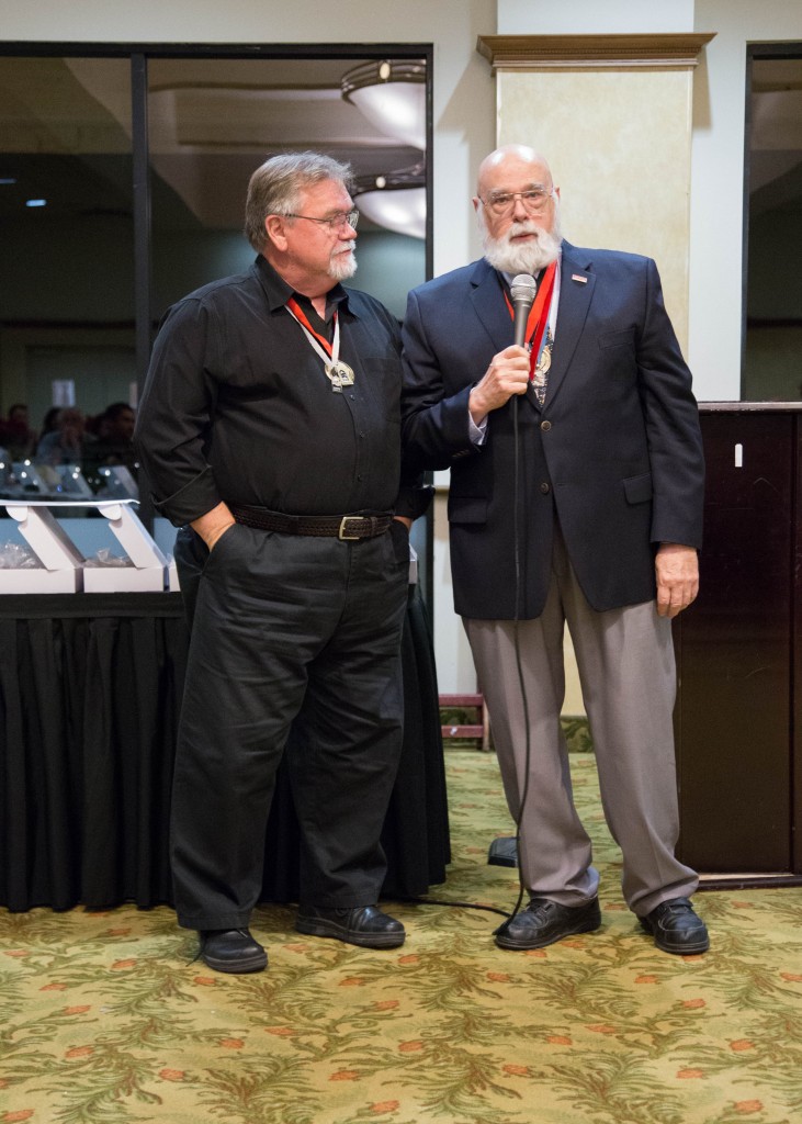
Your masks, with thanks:
[{"label": "bald white-bearded man in navy blazer holding a microphone", "polygon": [[[564,242],[543,156],[491,153],[473,205],[484,257],[410,293],[402,411],[407,455],[450,469],[455,608],[519,826],[530,900],[496,943],[601,924],[559,723],[567,623],[627,904],[657,948],[703,952],[674,854],[671,618],[699,590],[704,488],[691,373],[655,263]],[[518,274],[537,279],[525,346]]]}]

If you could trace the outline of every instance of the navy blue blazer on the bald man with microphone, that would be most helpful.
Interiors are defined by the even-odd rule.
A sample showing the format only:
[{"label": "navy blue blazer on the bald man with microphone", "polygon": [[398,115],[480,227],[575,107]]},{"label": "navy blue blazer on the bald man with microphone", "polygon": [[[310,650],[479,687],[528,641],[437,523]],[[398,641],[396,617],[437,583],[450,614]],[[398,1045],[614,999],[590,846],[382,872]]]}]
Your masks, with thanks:
[{"label": "navy blue blazer on the bald man with microphone", "polygon": [[513,338],[495,271],[481,260],[412,290],[402,334],[405,456],[450,469],[458,614],[539,616],[555,515],[598,610],[655,597],[656,544],[701,546],[699,409],[654,261],[563,243],[545,405],[528,391],[493,410],[480,447],[468,395]]}]

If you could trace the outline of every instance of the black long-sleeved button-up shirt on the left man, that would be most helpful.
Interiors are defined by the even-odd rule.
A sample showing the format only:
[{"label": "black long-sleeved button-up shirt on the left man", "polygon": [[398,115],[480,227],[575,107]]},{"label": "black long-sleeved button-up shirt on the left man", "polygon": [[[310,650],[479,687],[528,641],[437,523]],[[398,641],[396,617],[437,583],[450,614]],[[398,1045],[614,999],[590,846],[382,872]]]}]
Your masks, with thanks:
[{"label": "black long-sleeved button-up shirt on the left man", "polygon": [[[292,294],[259,255],[166,314],[136,442],[154,504],[174,524],[221,500],[291,515],[397,506],[398,323],[366,293],[332,288],[339,357],[354,370],[354,386],[337,393],[285,308]],[[408,507],[402,499],[399,513]]]}]

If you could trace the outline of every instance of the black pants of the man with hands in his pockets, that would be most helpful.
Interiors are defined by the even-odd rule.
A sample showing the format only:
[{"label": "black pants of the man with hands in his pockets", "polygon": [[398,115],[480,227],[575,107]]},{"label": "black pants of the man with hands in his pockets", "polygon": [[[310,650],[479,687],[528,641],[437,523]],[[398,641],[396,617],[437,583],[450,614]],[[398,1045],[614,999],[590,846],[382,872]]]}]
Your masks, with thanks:
[{"label": "black pants of the man with hands in his pockets", "polygon": [[248,924],[293,723],[301,903],[368,905],[385,874],[379,840],[401,750],[407,532],[393,523],[376,538],[340,542],[235,524],[211,553],[189,534],[204,564],[186,590],[171,826],[179,923]]}]

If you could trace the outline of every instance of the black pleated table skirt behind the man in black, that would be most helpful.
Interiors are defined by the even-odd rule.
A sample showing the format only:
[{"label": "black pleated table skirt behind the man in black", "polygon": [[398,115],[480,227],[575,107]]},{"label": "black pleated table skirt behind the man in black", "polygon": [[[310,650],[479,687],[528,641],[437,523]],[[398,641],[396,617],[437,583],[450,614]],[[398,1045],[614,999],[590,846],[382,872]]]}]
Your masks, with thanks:
[{"label": "black pleated table skirt behind the man in black", "polygon": [[[425,894],[450,859],[437,677],[416,587],[402,644],[405,732],[382,835],[389,897]],[[177,593],[0,597],[0,905],[172,904],[186,646]],[[282,768],[263,900],[297,899],[298,823]]]}]

